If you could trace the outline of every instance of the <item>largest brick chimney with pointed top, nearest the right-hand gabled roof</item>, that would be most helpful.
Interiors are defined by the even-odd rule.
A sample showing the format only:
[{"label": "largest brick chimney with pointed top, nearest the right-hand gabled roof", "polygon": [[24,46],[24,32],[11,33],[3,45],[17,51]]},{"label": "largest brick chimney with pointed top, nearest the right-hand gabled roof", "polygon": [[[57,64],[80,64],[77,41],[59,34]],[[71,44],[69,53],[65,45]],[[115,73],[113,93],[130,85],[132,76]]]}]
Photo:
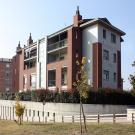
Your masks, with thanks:
[{"label": "largest brick chimney with pointed top, nearest the right-hand gabled roof", "polygon": [[82,20],[82,16],[80,15],[79,6],[77,6],[76,15],[73,17],[73,24],[75,27],[79,26],[80,20]]}]

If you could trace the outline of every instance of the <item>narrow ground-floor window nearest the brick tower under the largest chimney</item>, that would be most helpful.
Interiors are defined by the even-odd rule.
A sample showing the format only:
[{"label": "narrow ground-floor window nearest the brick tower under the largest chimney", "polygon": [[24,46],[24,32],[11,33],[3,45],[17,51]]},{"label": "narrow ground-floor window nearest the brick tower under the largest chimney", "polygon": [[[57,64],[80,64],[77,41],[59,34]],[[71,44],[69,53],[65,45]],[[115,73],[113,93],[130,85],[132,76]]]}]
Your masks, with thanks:
[{"label": "narrow ground-floor window nearest the brick tower under the largest chimney", "polygon": [[61,85],[67,85],[67,67],[62,68],[61,70]]}]

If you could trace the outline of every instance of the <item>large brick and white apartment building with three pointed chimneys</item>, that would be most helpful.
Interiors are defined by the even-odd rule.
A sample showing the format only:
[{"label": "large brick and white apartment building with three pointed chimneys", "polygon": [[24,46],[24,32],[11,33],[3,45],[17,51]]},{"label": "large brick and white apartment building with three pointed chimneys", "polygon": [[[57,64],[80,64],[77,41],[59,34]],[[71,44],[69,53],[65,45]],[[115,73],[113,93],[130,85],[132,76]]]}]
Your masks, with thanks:
[{"label": "large brick and white apartment building with three pointed chimneys", "polygon": [[82,19],[79,8],[73,24],[26,46],[13,57],[13,86],[20,91],[67,91],[76,81],[76,60],[87,58],[88,83],[94,88],[122,88],[121,42],[125,33],[107,18]]}]

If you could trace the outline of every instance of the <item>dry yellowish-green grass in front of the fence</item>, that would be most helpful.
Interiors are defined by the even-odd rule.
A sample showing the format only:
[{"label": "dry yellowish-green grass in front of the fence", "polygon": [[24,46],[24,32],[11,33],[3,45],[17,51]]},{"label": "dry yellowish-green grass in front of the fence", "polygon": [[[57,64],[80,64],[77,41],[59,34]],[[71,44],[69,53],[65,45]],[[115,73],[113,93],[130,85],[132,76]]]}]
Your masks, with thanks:
[{"label": "dry yellowish-green grass in front of the fence", "polygon": [[[135,135],[135,124],[88,124],[88,135]],[[39,124],[0,120],[0,135],[79,135],[79,124]]]}]

